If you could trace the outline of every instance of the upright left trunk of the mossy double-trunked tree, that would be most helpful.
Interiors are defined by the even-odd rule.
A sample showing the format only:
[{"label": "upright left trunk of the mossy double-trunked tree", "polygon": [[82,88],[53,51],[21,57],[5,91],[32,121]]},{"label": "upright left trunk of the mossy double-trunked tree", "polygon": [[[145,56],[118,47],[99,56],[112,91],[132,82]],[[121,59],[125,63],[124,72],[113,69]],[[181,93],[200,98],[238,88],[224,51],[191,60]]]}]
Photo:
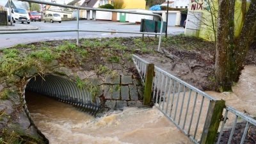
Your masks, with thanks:
[{"label": "upright left trunk of the mossy double-trunked tree", "polygon": [[234,5],[235,0],[220,0],[216,39],[215,77],[220,91],[232,91],[232,49],[234,49]]}]

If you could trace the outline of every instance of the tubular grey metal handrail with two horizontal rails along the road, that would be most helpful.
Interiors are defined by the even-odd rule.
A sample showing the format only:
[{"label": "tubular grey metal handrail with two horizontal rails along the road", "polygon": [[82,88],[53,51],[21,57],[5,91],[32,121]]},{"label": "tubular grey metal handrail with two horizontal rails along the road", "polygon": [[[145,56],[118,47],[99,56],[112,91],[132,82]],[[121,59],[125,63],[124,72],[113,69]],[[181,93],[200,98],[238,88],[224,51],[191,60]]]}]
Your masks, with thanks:
[{"label": "tubular grey metal handrail with two horizontal rails along the road", "polygon": [[[134,33],[134,34],[147,34],[147,35],[159,35],[159,44],[158,44],[158,51],[160,50],[161,45],[161,38],[163,33],[163,17],[158,14],[154,13],[141,13],[141,12],[128,12],[124,10],[111,10],[111,9],[105,9],[105,8],[87,8],[87,7],[79,7],[79,6],[70,6],[65,4],[57,4],[57,3],[51,3],[51,2],[45,2],[45,1],[38,1],[38,0],[22,0],[26,2],[31,3],[38,3],[38,4],[47,4],[51,6],[60,6],[63,8],[72,8],[77,10],[77,15],[79,15],[79,10],[94,10],[94,11],[104,11],[104,12],[120,12],[120,13],[133,13],[138,15],[152,15],[157,16],[161,19],[161,29],[160,33],[145,33],[145,32],[129,32],[129,31],[118,31],[118,33]],[[31,31],[0,31],[0,34],[15,34],[15,33],[53,33],[53,32],[77,32],[77,42],[76,44],[79,45],[79,32],[107,32],[107,33],[116,33],[116,31],[102,31],[102,30],[81,30],[79,29],[79,19],[77,19],[77,29],[67,29],[67,30],[31,30]]]}]

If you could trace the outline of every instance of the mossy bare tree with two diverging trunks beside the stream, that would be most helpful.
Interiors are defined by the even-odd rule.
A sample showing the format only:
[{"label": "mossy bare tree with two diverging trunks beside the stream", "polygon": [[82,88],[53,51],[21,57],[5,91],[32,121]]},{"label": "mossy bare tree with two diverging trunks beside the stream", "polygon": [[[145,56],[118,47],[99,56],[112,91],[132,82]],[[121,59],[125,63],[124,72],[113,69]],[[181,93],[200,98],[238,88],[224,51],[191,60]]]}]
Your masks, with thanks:
[{"label": "mossy bare tree with two diverging trunks beside the stream", "polygon": [[[218,29],[216,38],[215,77],[223,92],[232,92],[232,83],[239,80],[248,45],[256,28],[256,2],[241,0],[241,24],[235,36],[236,0],[218,0]],[[249,5],[246,7],[246,5]],[[237,24],[236,24],[237,25]]]}]

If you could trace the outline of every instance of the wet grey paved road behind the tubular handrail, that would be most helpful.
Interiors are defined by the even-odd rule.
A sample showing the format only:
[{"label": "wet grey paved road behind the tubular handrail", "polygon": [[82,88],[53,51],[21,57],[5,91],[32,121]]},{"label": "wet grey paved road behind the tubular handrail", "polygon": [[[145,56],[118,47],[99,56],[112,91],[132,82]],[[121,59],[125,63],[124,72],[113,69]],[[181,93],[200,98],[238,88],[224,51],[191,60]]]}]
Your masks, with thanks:
[{"label": "wet grey paved road behind the tubular handrail", "polygon": [[[77,29],[76,20],[58,22],[30,22],[30,24],[21,24],[17,22],[16,28],[33,27],[39,30],[64,30]],[[28,29],[29,29],[28,28]],[[3,29],[3,28],[2,28]],[[106,22],[95,20],[79,20],[79,29],[84,30],[104,30],[104,31],[140,31],[140,24],[131,24],[127,22]],[[6,29],[5,29],[6,30]],[[19,30],[19,29],[17,29]],[[184,33],[182,27],[168,27],[168,35]],[[141,36],[140,34],[127,33],[102,33],[102,32],[79,32],[79,38],[97,38],[97,37],[119,37],[119,36]],[[24,33],[24,34],[3,34],[0,35],[0,49],[12,47],[16,44],[26,44],[45,40],[63,40],[76,38],[76,32],[62,33]]]}]

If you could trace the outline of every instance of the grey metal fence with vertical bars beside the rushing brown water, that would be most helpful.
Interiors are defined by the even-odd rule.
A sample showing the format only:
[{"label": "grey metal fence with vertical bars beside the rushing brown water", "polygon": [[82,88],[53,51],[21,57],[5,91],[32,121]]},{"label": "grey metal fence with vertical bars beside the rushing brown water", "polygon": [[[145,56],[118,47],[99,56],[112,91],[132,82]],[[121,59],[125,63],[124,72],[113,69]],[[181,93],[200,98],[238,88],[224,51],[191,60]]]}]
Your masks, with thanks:
[{"label": "grey metal fence with vertical bars beside the rushing brown water", "polygon": [[[147,76],[147,61],[142,60],[138,56],[133,55],[132,59],[141,80],[145,84]],[[207,95],[190,84],[181,81],[177,77],[168,74],[161,68],[154,67],[154,81],[152,84],[151,99],[154,105],[175,124],[193,143],[214,143],[218,132],[218,141],[216,143],[225,143],[223,132],[231,131],[228,143],[234,143],[234,129],[237,124],[237,118],[246,123],[244,127],[243,137],[239,139],[239,143],[244,143],[246,133],[250,124],[256,125],[256,120],[250,118],[243,113],[230,106],[225,106],[224,100],[217,100]],[[225,116],[223,116],[223,108]],[[220,109],[218,109],[220,108]],[[228,119],[228,125],[225,127],[228,111],[231,113]],[[234,116],[231,116],[234,115]],[[234,118],[232,118],[234,117]],[[232,129],[228,127],[234,124]],[[222,121],[221,127],[219,127]],[[244,124],[245,125],[245,124]],[[211,134],[210,134],[211,133]],[[214,135],[214,136],[212,136]],[[249,134],[250,135],[250,134]],[[226,140],[227,141],[227,140]]]}]

